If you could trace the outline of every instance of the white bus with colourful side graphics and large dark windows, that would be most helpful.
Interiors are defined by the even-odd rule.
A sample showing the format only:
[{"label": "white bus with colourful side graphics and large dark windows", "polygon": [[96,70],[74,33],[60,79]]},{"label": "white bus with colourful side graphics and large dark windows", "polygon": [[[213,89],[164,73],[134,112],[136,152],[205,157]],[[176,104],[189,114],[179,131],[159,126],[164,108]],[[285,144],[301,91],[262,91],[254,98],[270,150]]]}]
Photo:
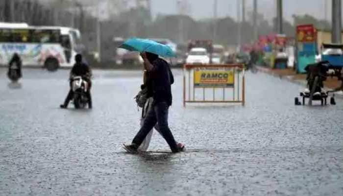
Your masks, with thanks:
[{"label": "white bus with colourful side graphics and large dark windows", "polygon": [[70,27],[0,23],[0,65],[18,53],[23,67],[71,68],[80,38],[79,30]]}]

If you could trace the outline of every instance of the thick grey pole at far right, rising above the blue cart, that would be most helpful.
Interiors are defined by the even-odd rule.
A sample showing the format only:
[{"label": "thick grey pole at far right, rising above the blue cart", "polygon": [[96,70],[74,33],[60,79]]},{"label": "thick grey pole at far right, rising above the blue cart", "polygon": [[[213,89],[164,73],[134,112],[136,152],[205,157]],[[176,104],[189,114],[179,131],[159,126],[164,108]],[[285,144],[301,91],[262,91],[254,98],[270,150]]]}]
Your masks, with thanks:
[{"label": "thick grey pole at far right, rising above the blue cart", "polygon": [[342,43],[342,1],[332,0],[332,32],[331,42],[336,44]]}]

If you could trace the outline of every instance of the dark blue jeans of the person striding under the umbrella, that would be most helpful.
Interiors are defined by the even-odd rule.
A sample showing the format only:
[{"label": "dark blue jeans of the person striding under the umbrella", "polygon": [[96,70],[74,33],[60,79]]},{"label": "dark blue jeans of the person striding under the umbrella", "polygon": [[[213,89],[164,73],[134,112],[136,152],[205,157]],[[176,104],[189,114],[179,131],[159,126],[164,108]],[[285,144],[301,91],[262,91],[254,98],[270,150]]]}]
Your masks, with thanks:
[{"label": "dark blue jeans of the person striding under the umbrella", "polygon": [[168,104],[166,102],[158,102],[153,105],[153,109],[149,110],[144,120],[143,126],[133,138],[132,143],[140,146],[143,140],[147,137],[149,131],[158,123],[162,137],[167,141],[172,152],[178,152],[178,148],[172,135],[172,131],[168,126]]}]

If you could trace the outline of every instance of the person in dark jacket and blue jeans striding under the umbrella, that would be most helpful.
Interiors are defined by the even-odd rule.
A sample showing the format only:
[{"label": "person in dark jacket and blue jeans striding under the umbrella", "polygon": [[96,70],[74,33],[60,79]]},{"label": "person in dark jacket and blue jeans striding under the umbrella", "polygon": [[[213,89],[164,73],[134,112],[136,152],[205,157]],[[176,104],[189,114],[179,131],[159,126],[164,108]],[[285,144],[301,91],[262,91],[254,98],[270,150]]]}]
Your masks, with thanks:
[{"label": "person in dark jacket and blue jeans striding under the umbrella", "polygon": [[144,68],[152,81],[152,109],[147,112],[143,126],[132,140],[131,145],[124,145],[129,152],[137,152],[149,131],[158,123],[160,133],[167,141],[172,152],[182,151],[183,146],[177,145],[168,126],[168,109],[172,105],[171,77],[168,63],[158,58],[158,55],[144,52],[141,54]]}]

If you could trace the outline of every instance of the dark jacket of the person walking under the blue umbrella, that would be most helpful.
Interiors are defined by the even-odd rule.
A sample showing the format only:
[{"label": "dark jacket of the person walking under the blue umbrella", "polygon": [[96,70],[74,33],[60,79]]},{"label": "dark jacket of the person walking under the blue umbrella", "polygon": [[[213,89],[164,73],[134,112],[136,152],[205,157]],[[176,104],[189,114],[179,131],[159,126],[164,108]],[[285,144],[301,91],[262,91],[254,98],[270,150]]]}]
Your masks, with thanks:
[{"label": "dark jacket of the person walking under the blue umbrella", "polygon": [[158,102],[166,102],[169,106],[172,105],[172,89],[171,85],[174,83],[174,77],[169,64],[157,58],[152,63],[153,69],[148,72],[152,91],[153,104]]}]

